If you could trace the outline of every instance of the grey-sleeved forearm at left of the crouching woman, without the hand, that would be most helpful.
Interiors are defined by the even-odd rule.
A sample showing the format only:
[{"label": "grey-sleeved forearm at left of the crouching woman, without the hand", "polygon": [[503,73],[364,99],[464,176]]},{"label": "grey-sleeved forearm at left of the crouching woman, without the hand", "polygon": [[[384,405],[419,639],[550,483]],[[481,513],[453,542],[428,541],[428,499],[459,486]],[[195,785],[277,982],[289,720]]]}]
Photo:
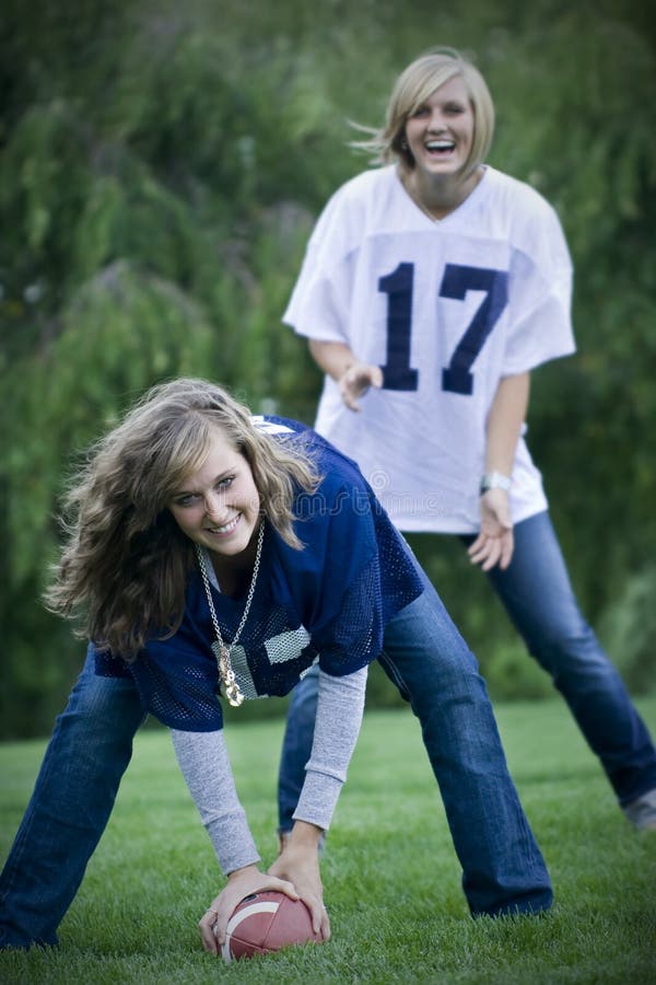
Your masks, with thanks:
[{"label": "grey-sleeved forearm at left of the crouching woman, without the hand", "polygon": [[199,810],[219,865],[225,874],[259,861],[246,814],[239,803],[223,731],[171,730],[189,792]]}]

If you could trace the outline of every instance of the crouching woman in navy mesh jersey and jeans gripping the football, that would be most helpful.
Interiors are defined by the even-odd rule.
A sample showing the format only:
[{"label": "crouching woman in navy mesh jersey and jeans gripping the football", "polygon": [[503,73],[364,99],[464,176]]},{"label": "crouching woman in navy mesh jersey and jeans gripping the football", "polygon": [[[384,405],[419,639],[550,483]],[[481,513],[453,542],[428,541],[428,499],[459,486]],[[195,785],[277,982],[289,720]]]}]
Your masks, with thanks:
[{"label": "crouching woman in navy mesh jersey and jeans gripping the football", "polygon": [[[471,913],[550,906],[476,660],[351,460],[303,425],[254,418],[221,387],[179,380],[95,445],[68,506],[47,601],[91,642],[0,877],[3,947],[57,943],[147,714],[171,729],[227,877],[200,919],[206,949],[265,889],[301,896],[328,938],[318,844],[375,659],[421,721]],[[314,742],[284,850],[262,871],[220,695],[284,695],[308,672]]]}]

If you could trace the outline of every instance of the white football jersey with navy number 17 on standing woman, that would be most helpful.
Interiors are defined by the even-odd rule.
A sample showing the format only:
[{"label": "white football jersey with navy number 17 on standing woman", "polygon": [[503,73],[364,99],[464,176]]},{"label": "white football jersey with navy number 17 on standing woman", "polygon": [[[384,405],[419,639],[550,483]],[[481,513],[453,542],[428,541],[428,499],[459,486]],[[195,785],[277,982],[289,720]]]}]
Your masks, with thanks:
[{"label": "white football jersey with navy number 17 on standing woman", "polygon": [[[383,390],[370,390],[360,413],[326,378],[315,428],[356,460],[400,530],[479,529],[485,419],[500,379],[574,351],[571,291],[554,210],[492,167],[441,221],[414,204],[395,166],[332,196],[283,321],[383,368]],[[513,519],[546,507],[522,438]]]}]

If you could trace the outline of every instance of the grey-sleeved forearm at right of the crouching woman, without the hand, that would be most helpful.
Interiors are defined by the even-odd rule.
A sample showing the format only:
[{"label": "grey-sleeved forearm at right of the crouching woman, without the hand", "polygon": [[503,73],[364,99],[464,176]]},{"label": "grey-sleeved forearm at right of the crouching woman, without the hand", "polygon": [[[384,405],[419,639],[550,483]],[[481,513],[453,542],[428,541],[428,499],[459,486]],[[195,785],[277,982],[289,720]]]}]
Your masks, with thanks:
[{"label": "grey-sleeved forearm at right of the crouching woman, without the hand", "polygon": [[319,673],[319,699],[312,755],[295,821],[330,826],[362,725],[367,668],[345,677]]}]

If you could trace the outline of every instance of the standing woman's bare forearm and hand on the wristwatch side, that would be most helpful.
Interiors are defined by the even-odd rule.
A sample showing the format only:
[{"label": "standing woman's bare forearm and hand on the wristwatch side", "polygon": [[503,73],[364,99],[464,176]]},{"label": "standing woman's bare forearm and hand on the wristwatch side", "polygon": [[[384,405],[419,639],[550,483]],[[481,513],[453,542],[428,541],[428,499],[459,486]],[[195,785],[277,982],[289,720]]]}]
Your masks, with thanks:
[{"label": "standing woman's bare forearm and hand on the wristwatch side", "polygon": [[[508,479],[522,426],[528,409],[530,374],[518,373],[501,380],[487,424],[485,473],[499,473]],[[488,489],[481,496],[481,531],[469,548],[473,564],[483,571],[494,565],[503,570],[513,557],[513,521],[508,507],[508,490]]]}]

